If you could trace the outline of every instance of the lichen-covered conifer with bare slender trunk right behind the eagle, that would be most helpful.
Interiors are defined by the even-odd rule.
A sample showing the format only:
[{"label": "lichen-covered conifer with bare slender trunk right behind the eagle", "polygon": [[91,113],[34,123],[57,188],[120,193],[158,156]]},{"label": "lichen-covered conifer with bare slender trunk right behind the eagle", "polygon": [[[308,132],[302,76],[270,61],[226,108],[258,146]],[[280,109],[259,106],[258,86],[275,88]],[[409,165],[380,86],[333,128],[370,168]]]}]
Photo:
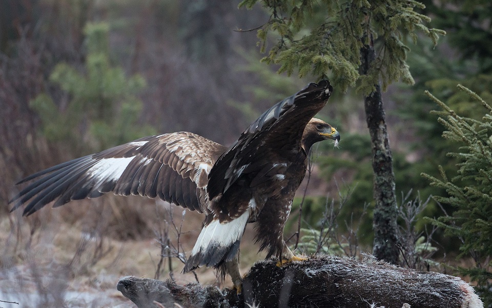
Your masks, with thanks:
[{"label": "lichen-covered conifer with bare slender trunk right behind the eagle", "polygon": [[[239,6],[253,7],[258,0]],[[409,48],[405,34],[417,41],[417,31],[434,44],[444,31],[424,25],[430,18],[414,8],[413,0],[394,1],[275,1],[261,4],[270,20],[258,30],[260,49],[265,51],[268,34],[279,35],[263,61],[280,65],[279,72],[300,77],[313,74],[328,78],[339,91],[356,86],[364,97],[367,126],[371,135],[374,170],[374,255],[398,263],[397,205],[392,154],[386,131],[381,84],[385,90],[395,81],[413,84],[406,64]]]}]

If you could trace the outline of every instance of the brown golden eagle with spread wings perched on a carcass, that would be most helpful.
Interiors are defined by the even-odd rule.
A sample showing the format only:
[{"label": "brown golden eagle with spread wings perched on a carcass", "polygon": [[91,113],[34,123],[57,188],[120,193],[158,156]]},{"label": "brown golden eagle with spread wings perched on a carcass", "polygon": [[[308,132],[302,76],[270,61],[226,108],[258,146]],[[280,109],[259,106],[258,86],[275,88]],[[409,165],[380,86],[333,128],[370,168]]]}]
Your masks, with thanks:
[{"label": "brown golden eagle with spread wings perched on a carcass", "polygon": [[311,83],[265,111],[239,139],[225,147],[190,132],[141,138],[33,174],[10,202],[31,215],[46,204],[116,195],[159,197],[206,214],[185,265],[214,266],[240,287],[238,251],[244,228],[256,222],[260,251],[293,260],[283,227],[318,141],[340,134],[313,118],[333,91],[329,81]]}]

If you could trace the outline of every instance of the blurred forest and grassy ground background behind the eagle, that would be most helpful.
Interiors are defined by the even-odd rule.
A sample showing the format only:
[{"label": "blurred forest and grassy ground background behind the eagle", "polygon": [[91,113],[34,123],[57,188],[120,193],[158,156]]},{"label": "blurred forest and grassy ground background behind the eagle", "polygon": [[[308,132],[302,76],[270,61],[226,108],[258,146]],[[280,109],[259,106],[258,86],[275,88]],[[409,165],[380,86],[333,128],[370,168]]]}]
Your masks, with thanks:
[{"label": "blurred forest and grassy ground background behind the eagle", "polygon": [[[433,266],[456,274],[460,266],[474,267],[488,275],[492,248],[480,256],[463,254],[459,235],[447,235],[443,228],[431,231],[430,221],[423,219],[453,215],[456,208],[428,199],[447,197],[449,191],[443,185],[429,185],[421,173],[440,178],[440,165],[452,178],[461,162],[460,157],[447,155],[459,152],[459,144],[442,138],[446,128],[438,122],[438,114],[430,113],[439,107],[424,91],[475,120],[487,110],[457,84],[492,102],[492,4],[423,3],[426,7],[420,12],[432,17],[430,26],[447,35],[437,47],[426,37],[419,37],[417,44],[404,38],[411,48],[407,64],[415,85],[394,83],[383,94],[400,206],[420,206],[417,217],[401,223],[411,223],[415,234],[423,236],[414,244],[427,243],[419,251],[420,269]],[[9,214],[8,200],[17,192],[14,184],[33,172],[139,137],[185,130],[224,145],[232,143],[265,109],[316,81],[314,76],[277,74],[278,66],[260,62],[265,54],[257,47],[255,28],[268,18],[260,5],[238,9],[238,2],[230,1],[0,1],[0,263],[4,268],[0,288],[7,290],[8,298],[23,294],[39,303],[63,302],[69,291],[114,290],[115,277],[121,275],[156,273],[157,278],[165,278],[169,269],[181,270],[176,258],[162,265],[159,252],[171,254],[166,241],[181,228],[173,254],[179,259],[182,249],[191,249],[201,227],[198,215],[182,214],[181,209],[145,198],[106,196],[55,210],[47,207],[20,218],[20,213]],[[268,41],[276,40],[270,33]],[[373,171],[363,100],[352,88],[341,92],[336,84],[333,87],[335,94],[319,117],[337,127],[340,146],[321,143],[315,148],[314,165],[298,191],[286,235],[297,230],[297,208],[302,202],[301,243],[316,242],[316,233],[309,230],[318,230],[320,237],[327,229],[333,235],[336,228],[348,243],[353,244],[356,236],[361,251],[371,252]],[[185,215],[185,223],[180,222]],[[331,247],[330,242],[323,245]],[[336,246],[342,251],[348,247]],[[306,244],[303,249],[320,251],[310,247]],[[337,249],[321,251],[337,253]],[[247,250],[257,249],[242,252]],[[262,258],[248,255],[241,254],[245,269]],[[433,260],[427,258],[430,255]],[[44,271],[50,274],[36,278]],[[200,273],[210,274],[200,282],[215,281],[213,271]],[[470,273],[463,277],[479,281]],[[487,288],[490,277],[479,282]],[[29,290],[28,286],[31,291],[19,291]],[[31,293],[39,298],[26,295]]]}]

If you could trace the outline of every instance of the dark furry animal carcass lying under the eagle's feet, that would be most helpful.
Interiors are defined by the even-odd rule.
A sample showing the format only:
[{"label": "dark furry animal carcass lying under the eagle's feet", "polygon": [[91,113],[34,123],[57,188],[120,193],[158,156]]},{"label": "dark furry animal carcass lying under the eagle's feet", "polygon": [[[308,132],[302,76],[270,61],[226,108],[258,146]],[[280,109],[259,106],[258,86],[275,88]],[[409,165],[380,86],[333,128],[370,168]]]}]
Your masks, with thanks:
[{"label": "dark furry animal carcass lying under the eagle's feet", "polygon": [[330,256],[282,267],[274,260],[257,262],[245,275],[239,295],[229,288],[131,276],[121,278],[118,290],[139,308],[174,303],[185,308],[483,308],[473,287],[458,277]]}]

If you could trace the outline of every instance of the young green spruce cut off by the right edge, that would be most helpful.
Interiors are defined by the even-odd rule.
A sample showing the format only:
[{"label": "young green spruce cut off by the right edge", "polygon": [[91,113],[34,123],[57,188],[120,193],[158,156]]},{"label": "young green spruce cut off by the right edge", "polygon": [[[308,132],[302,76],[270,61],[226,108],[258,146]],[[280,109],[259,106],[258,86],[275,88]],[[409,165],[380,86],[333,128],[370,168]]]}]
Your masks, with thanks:
[{"label": "young green spruce cut off by the right edge", "polygon": [[448,235],[462,241],[462,258],[472,258],[475,267],[459,268],[461,274],[478,283],[477,290],[485,306],[492,304],[492,107],[476,93],[459,85],[462,93],[485,108],[482,119],[461,117],[453,109],[428,94],[441,108],[439,122],[446,131],[443,137],[460,145],[459,152],[448,153],[456,157],[456,175],[448,179],[439,166],[442,180],[422,174],[431,185],[444,188],[448,196],[435,197],[454,211],[450,215],[433,219]]}]

